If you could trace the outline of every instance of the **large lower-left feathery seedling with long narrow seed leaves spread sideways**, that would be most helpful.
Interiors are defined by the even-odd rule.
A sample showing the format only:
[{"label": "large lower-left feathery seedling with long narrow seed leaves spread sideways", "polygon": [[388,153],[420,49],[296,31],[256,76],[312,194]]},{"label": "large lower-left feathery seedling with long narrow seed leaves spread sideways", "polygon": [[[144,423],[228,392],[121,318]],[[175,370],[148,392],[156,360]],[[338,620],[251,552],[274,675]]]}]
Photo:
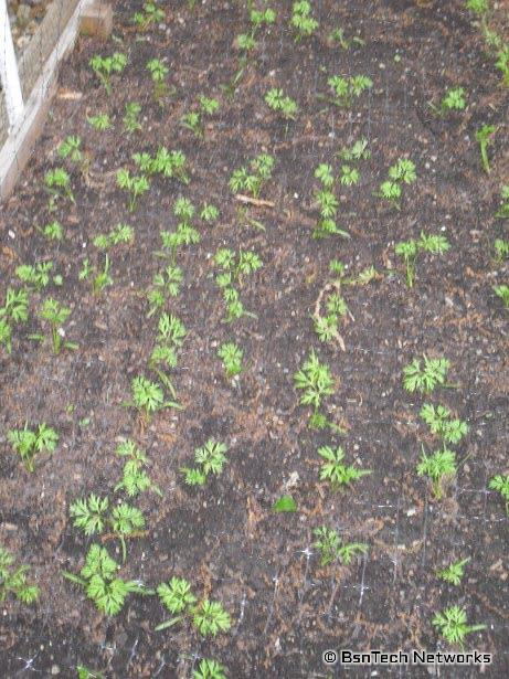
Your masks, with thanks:
[{"label": "large lower-left feathery seedling with long narrow seed leaves spread sideways", "polygon": [[107,616],[117,615],[124,608],[128,594],[153,594],[137,580],[117,577],[120,569],[104,547],[93,544],[85,558],[79,575],[63,572],[64,577],[84,587],[96,608]]}]

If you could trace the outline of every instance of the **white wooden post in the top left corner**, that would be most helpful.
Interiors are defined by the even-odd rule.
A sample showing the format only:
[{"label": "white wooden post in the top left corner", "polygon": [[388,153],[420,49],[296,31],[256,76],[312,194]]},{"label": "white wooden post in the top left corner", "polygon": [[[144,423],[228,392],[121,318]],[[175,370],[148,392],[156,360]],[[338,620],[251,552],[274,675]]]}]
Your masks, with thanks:
[{"label": "white wooden post in the top left corner", "polygon": [[7,0],[0,0],[0,81],[6,96],[9,126],[12,129],[21,120],[24,105]]}]

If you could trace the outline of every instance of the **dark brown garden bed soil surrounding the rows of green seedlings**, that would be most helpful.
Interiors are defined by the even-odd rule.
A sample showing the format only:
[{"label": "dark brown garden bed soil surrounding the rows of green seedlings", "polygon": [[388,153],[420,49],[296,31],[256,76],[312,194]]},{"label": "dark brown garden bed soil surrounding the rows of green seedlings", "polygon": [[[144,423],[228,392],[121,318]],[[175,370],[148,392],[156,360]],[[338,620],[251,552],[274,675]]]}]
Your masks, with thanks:
[{"label": "dark brown garden bed soil surrounding the rows of green seedlings", "polygon": [[[0,540],[41,587],[38,605],[2,603],[0,675],[75,677],[78,664],[107,677],[191,677],[197,658],[221,661],[230,678],[369,677],[377,668],[327,668],[327,648],[445,648],[432,618],[458,604],[471,623],[487,628],[467,647],[494,654],[486,677],[509,672],[508,518],[489,479],[507,473],[507,310],[492,285],[507,280],[507,266],[494,264],[492,243],[507,237],[507,221],[494,214],[500,185],[509,183],[508,91],[484,51],[478,30],[460,0],[449,2],[316,0],[318,34],[295,43],[288,29],[291,2],[277,6],[277,24],[262,31],[258,47],[233,99],[221,89],[236,73],[234,36],[247,30],[245,3],[170,3],[162,28],[137,40],[131,17],[141,2],[115,4],[115,42],[81,39],[64,65],[61,91],[44,136],[34,149],[15,195],[0,214],[0,299],[17,287],[21,263],[52,259],[64,277],[31,297],[31,320],[14,333],[13,351],[0,352]],[[508,3],[499,2],[499,19]],[[365,45],[332,47],[337,25]],[[93,54],[129,53],[110,98],[88,67]],[[400,61],[394,55],[401,56]],[[149,59],[165,59],[174,88],[161,108],[152,99]],[[373,89],[344,110],[317,95],[330,74],[367,74]],[[437,118],[428,102],[462,85],[465,113]],[[299,106],[288,127],[264,103],[282,86]],[[179,125],[200,94],[215,96],[221,110],[199,141]],[[127,102],[142,105],[144,129],[129,137],[121,118]],[[94,131],[86,116],[107,112],[114,129]],[[491,174],[483,172],[475,131],[499,126],[490,147]],[[54,246],[38,226],[46,213],[44,173],[59,165],[56,148],[79,135],[89,156],[85,177],[73,171],[76,204],[56,213],[65,238]],[[339,168],[335,153],[365,136],[372,151],[358,187],[342,188],[340,226],[350,240],[311,238],[315,168]],[[191,181],[155,179],[134,214],[115,184],[115,171],[132,167],[131,155],[158,146],[181,149]],[[262,198],[275,208],[250,208],[264,231],[246,223],[229,189],[232,171],[255,155],[276,158]],[[415,165],[418,180],[404,190],[401,211],[373,195],[399,157]],[[146,291],[161,259],[159,232],[174,225],[178,195],[197,206],[220,208],[213,226],[200,224],[201,242],[183,248],[181,295],[168,310],[184,322],[185,339],[173,381],[182,412],[162,411],[146,427],[123,403],[132,376],[150,375],[147,360],[157,318],[147,319]],[[114,285],[96,297],[78,280],[85,257],[103,261],[92,244],[118,222],[136,232],[135,245],[110,251]],[[421,230],[444,234],[445,257],[417,264],[413,289],[397,273],[394,243]],[[256,318],[223,322],[224,305],[214,284],[212,255],[219,247],[255,251],[263,268],[241,296]],[[379,278],[344,295],[353,319],[341,333],[346,351],[322,344],[314,331],[316,299],[330,279],[335,257],[358,273],[374,266]],[[54,357],[28,336],[41,330],[36,310],[47,296],[73,309],[66,335],[75,352]],[[236,388],[223,376],[216,348],[235,340],[246,369]],[[312,432],[298,405],[293,375],[315,347],[336,379],[329,412],[347,433]],[[434,500],[415,471],[425,429],[423,399],[402,389],[402,368],[422,353],[449,359],[449,381],[434,403],[447,404],[469,424],[458,447],[457,481],[444,501]],[[150,375],[153,378],[153,374]],[[67,406],[74,406],[71,409]],[[88,426],[79,424],[89,418]],[[40,456],[28,473],[7,443],[7,432],[24,422],[46,422],[60,433],[53,456]],[[187,488],[179,473],[208,437],[227,443],[229,464],[202,490]],[[119,437],[147,450],[150,474],[163,498],[145,494],[148,534],[128,544],[121,574],[156,586],[172,575],[187,577],[199,596],[210,593],[231,613],[233,627],[203,640],[191,626],[156,633],[166,619],[156,596],[130,596],[112,619],[98,614],[78,587],[62,576],[78,572],[88,548],[73,528],[68,505],[89,492],[112,501],[121,471],[115,455]],[[342,445],[349,461],[372,469],[352,488],[333,494],[318,481],[317,448]],[[296,513],[271,507],[290,489]],[[327,524],[346,540],[369,544],[350,566],[319,567],[312,529]],[[107,543],[114,554],[114,543]],[[116,556],[119,559],[119,553]],[[463,584],[453,587],[438,567],[469,556]],[[26,665],[33,660],[31,665]],[[24,667],[25,666],[25,667]],[[378,668],[378,676],[427,677],[423,667]],[[441,676],[474,677],[479,668],[449,668]],[[36,675],[35,675],[36,676]]]}]

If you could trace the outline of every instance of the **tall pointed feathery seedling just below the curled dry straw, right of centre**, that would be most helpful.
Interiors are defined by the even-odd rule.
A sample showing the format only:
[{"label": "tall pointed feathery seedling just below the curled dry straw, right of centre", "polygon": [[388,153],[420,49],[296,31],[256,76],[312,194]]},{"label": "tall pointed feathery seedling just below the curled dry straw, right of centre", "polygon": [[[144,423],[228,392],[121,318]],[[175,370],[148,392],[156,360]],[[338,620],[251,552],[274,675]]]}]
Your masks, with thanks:
[{"label": "tall pointed feathery seedling just below the curled dry straw, right of centre", "polygon": [[308,358],[303,363],[303,368],[295,373],[294,382],[296,389],[304,392],[299,400],[300,405],[310,405],[312,407],[309,426],[311,428],[330,426],[330,423],[319,411],[325,397],[335,393],[335,382],[329,367],[320,363],[314,349],[311,349]]}]

